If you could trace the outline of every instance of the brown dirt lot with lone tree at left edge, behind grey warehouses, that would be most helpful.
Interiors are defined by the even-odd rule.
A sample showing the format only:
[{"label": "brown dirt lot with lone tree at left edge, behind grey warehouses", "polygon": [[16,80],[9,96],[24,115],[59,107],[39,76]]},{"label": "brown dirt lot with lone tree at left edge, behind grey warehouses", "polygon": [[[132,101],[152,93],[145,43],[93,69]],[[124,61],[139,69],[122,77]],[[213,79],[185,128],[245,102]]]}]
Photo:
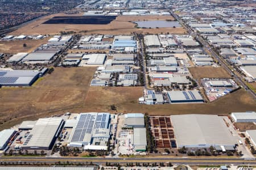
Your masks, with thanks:
[{"label": "brown dirt lot with lone tree at left edge, behind grey warehouses", "polygon": [[[0,53],[16,54],[20,52],[30,53],[38,46],[46,43],[49,38],[42,40],[14,40],[14,41],[0,41]],[[27,44],[23,47],[23,44]]]}]

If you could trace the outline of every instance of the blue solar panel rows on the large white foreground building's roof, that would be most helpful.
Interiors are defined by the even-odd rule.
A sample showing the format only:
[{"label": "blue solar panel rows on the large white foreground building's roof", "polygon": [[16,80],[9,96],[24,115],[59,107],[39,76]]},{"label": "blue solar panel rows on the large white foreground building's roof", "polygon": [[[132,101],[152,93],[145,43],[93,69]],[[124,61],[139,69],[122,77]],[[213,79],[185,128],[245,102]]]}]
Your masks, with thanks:
[{"label": "blue solar panel rows on the large white foreground building's roof", "polygon": [[85,135],[92,134],[94,129],[108,128],[108,122],[109,113],[81,113],[71,142],[84,141]]}]

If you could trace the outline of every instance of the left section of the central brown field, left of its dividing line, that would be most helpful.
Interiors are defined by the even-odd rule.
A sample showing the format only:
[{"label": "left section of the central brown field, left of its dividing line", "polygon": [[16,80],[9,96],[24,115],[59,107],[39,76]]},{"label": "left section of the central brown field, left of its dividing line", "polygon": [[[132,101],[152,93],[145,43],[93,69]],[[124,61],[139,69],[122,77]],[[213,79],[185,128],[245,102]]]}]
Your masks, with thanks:
[{"label": "left section of the central brown field, left of its dividing line", "polygon": [[0,128],[81,107],[95,67],[56,68],[33,87],[0,89]]}]

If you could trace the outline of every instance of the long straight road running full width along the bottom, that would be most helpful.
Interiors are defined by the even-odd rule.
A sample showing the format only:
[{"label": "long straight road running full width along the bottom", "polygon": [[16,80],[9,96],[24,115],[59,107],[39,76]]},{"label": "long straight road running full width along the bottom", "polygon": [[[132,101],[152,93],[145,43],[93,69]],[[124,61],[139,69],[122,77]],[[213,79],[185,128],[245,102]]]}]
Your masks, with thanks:
[{"label": "long straight road running full width along the bottom", "polygon": [[0,162],[6,163],[56,163],[56,162],[69,162],[69,163],[85,163],[92,162],[94,164],[111,163],[167,163],[172,164],[189,164],[189,165],[210,165],[210,164],[256,164],[255,159],[245,160],[241,158],[53,158],[53,157],[2,157]]}]

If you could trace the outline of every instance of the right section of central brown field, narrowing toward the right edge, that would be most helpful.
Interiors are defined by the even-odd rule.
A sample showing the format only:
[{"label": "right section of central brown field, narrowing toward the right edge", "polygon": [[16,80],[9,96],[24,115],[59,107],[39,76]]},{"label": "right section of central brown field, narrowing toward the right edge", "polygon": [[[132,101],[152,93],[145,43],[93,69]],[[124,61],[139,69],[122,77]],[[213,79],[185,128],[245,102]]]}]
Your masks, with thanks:
[{"label": "right section of central brown field, narrowing toward the right edge", "polygon": [[97,109],[109,111],[110,105],[115,104],[118,112],[148,113],[155,116],[191,113],[228,115],[231,112],[254,111],[256,109],[255,99],[244,90],[238,90],[211,103],[204,104],[141,105],[137,103],[139,96],[142,96],[141,87],[95,87],[88,91],[85,105],[88,108],[95,108],[94,111]]}]

